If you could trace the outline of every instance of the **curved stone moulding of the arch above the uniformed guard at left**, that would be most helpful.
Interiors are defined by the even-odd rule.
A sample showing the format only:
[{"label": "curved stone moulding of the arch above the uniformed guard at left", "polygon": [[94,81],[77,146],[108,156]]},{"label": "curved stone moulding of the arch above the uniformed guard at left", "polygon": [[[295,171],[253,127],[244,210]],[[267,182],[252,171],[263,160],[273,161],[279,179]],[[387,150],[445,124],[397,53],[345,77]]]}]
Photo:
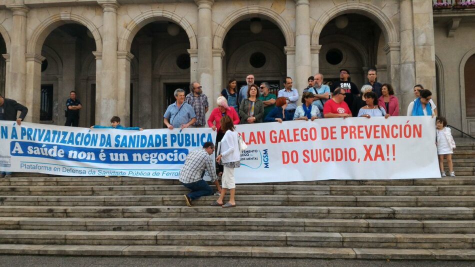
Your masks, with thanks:
[{"label": "curved stone moulding of the arch above the uniformed guard at left", "polygon": [[95,50],[98,52],[102,51],[102,39],[100,37],[99,30],[95,27],[95,25],[90,20],[81,15],[63,12],[44,19],[34,29],[33,34],[29,38],[26,45],[26,53],[40,54],[41,46],[43,45],[43,42],[49,33],[51,33],[51,31],[56,27],[66,23],[76,23],[85,26],[94,37]]}]

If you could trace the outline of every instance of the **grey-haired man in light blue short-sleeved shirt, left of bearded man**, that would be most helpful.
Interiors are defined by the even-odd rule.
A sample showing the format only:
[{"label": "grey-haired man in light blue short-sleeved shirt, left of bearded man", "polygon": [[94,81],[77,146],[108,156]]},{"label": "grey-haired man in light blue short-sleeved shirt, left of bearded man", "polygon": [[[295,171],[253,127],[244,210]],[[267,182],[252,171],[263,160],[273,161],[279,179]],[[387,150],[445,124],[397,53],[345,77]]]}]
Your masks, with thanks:
[{"label": "grey-haired man in light blue short-sleeved shirt, left of bearded man", "polygon": [[168,129],[186,128],[196,121],[193,107],[184,102],[184,90],[176,89],[174,92],[176,101],[170,104],[163,114],[163,123]]}]

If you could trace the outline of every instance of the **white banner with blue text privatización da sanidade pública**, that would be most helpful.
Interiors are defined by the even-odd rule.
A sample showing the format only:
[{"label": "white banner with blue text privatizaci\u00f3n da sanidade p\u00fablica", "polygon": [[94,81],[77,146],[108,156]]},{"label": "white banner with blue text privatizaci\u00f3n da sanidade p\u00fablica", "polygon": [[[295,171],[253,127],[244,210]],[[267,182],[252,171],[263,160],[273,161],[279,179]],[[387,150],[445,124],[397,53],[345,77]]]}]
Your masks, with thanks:
[{"label": "white banner with blue text privatizaci\u00f3n da sanidade p\u00fablica", "polygon": [[178,178],[210,128],[118,130],[0,121],[0,170],[68,176]]}]

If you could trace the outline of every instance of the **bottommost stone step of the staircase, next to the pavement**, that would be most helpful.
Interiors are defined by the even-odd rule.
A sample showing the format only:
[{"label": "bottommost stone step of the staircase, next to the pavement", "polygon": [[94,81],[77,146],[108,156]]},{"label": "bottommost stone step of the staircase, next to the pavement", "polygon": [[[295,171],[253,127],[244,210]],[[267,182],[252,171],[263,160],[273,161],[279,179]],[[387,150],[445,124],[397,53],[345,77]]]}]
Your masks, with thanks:
[{"label": "bottommost stone step of the staircase, next to the pavement", "polygon": [[473,260],[475,249],[0,244],[1,254]]}]

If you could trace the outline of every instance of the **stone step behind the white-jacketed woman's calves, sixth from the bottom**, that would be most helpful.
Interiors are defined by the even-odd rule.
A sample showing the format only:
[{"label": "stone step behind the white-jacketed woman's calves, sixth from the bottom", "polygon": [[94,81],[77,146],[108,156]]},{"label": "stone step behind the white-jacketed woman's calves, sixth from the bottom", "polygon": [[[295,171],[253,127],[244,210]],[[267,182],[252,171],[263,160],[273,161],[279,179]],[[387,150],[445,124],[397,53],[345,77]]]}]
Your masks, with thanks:
[{"label": "stone step behind the white-jacketed woman's calves, sixth from the bottom", "polygon": [[[213,186],[214,187],[214,186]],[[475,195],[475,185],[273,185],[241,184],[239,195]],[[0,195],[182,195],[183,185],[0,186]]]}]

